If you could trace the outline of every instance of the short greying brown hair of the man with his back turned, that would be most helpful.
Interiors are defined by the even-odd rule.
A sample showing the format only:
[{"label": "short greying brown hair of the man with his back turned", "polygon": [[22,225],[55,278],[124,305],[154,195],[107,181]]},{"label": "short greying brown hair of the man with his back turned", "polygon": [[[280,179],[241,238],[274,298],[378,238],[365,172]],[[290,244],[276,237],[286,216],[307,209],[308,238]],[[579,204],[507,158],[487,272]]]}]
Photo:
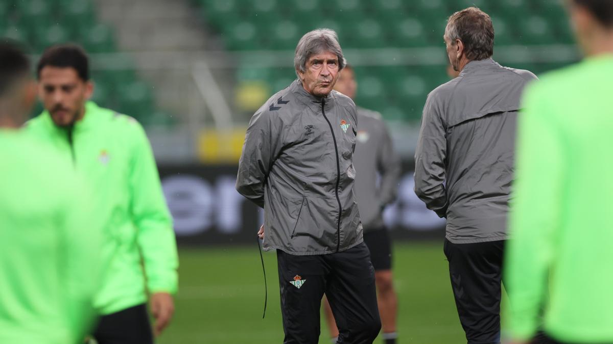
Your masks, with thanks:
[{"label": "short greying brown hair of the man with his back turned", "polygon": [[452,14],[447,19],[445,38],[455,44],[459,39],[464,44],[466,58],[479,61],[494,53],[494,27],[492,18],[478,9],[468,7]]}]

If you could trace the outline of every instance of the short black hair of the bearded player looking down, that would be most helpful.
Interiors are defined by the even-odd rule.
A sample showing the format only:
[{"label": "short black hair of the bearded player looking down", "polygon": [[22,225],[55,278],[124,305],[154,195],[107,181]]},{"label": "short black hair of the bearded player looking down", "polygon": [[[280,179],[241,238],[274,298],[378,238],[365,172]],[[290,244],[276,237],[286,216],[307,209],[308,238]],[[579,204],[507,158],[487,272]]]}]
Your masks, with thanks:
[{"label": "short black hair of the bearded player looking down", "polygon": [[89,80],[89,59],[85,50],[76,44],[58,44],[47,48],[36,68],[37,77],[44,67],[72,67],[77,70],[78,77],[83,81]]}]

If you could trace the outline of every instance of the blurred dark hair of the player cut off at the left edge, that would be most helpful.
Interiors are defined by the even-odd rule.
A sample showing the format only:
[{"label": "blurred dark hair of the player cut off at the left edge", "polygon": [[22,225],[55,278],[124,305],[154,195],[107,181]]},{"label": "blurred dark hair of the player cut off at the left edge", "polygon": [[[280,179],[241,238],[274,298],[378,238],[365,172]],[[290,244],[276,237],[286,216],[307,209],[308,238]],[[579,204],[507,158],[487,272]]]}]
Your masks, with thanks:
[{"label": "blurred dark hair of the player cut off at the left edge", "polygon": [[13,84],[30,72],[30,61],[17,42],[0,39],[0,97],[12,89]]}]

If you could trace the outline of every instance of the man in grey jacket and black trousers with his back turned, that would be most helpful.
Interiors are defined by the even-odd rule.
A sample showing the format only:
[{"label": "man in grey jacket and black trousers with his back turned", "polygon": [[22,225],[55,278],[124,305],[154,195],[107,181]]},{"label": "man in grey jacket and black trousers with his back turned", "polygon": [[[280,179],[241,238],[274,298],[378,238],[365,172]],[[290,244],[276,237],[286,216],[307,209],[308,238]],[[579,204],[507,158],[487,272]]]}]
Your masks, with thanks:
[{"label": "man in grey jacket and black trousers with his back turned", "polygon": [[492,20],[475,7],[451,15],[443,38],[460,74],[428,94],[415,192],[447,219],[444,253],[466,340],[498,343],[517,111],[536,77],[493,61]]}]

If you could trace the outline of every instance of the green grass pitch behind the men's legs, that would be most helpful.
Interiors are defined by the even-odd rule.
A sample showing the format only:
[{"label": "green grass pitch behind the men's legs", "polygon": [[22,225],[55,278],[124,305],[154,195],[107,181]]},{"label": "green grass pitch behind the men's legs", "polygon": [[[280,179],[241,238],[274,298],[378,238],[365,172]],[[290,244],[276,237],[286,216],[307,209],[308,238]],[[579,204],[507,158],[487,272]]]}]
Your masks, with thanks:
[{"label": "green grass pitch behind the men's legs", "polygon": [[[158,344],[283,343],[274,252],[264,253],[268,278],[264,320],[264,280],[255,242],[240,247],[182,248],[179,255],[175,317]],[[442,240],[395,244],[394,274],[400,343],[466,343]],[[319,343],[330,343],[323,321]]]}]

